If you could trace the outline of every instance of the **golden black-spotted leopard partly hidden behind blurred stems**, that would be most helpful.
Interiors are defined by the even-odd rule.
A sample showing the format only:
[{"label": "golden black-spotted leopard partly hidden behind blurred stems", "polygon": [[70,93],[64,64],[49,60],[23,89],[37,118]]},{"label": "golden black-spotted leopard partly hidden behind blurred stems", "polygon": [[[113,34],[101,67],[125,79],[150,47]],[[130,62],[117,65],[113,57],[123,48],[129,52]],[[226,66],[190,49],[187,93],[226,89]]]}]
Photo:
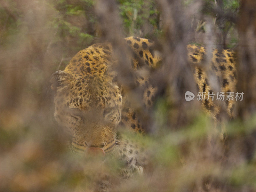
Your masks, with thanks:
[{"label": "golden black-spotted leopard partly hidden behind blurred stems", "polygon": [[[144,67],[161,67],[162,58],[155,54],[154,42],[139,37],[124,38],[131,54],[130,71],[135,85],[142,90],[145,108],[151,108],[158,87],[150,80],[150,74],[137,73]],[[199,92],[213,92],[207,79],[207,70],[202,67],[206,50],[202,46],[187,45],[187,60],[194,69],[194,80]],[[118,58],[117,58],[118,59]],[[85,48],[69,61],[64,70],[56,71],[51,77],[54,90],[54,117],[72,137],[72,148],[84,154],[88,150],[104,155],[115,154],[124,162],[121,169],[123,178],[143,173],[147,155],[129,139],[119,133],[119,126],[143,135],[143,124],[131,107],[128,90],[116,80],[118,76],[111,43],[98,43]],[[221,91],[235,92],[235,53],[232,50],[212,50],[210,71],[217,76]],[[210,99],[202,100],[204,109],[218,118],[220,106]],[[226,103],[228,116],[233,117],[234,101]],[[105,186],[104,184],[105,183]],[[109,185],[109,184],[108,184]],[[102,181],[98,191],[108,191]],[[97,190],[95,190],[97,191]]]}]

